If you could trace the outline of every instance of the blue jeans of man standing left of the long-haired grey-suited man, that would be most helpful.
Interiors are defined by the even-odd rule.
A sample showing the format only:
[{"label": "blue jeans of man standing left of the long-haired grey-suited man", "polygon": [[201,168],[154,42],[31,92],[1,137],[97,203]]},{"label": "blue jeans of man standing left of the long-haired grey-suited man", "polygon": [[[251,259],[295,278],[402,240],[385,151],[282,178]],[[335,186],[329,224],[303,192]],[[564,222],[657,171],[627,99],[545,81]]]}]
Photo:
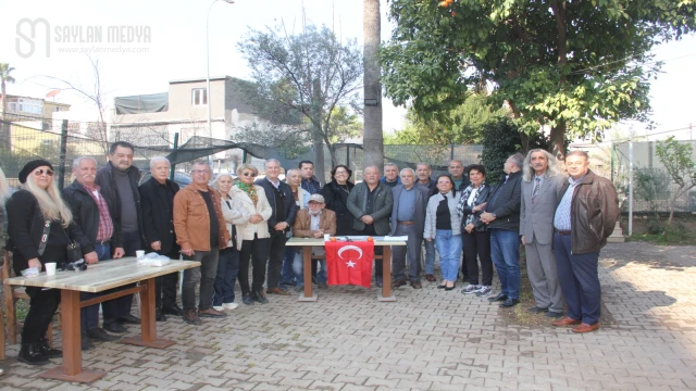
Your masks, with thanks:
[{"label": "blue jeans of man standing left of the long-haired grey-suited man", "polygon": [[490,229],[490,257],[500,278],[500,293],[520,299],[520,234]]}]

